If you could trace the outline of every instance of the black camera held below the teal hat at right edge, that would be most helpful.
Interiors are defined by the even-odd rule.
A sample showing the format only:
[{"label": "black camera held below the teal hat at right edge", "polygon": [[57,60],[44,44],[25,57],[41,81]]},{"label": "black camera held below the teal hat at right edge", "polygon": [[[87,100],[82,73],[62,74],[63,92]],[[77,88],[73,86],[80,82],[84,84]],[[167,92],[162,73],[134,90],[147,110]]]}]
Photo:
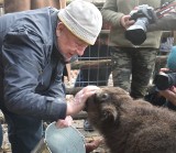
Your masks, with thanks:
[{"label": "black camera held below the teal hat at right edge", "polygon": [[166,90],[172,86],[176,86],[176,73],[163,73],[161,72],[154,78],[154,84],[158,90]]}]

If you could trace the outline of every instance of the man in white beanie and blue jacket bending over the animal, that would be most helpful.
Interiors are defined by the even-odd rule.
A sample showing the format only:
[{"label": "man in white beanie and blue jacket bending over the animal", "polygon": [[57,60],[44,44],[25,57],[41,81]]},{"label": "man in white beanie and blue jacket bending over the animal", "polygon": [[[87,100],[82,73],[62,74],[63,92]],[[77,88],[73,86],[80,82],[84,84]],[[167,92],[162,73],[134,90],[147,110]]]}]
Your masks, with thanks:
[{"label": "man in white beanie and blue jacket bending over the animal", "polygon": [[[0,18],[0,105],[13,153],[30,153],[42,136],[42,120],[69,125],[98,87],[66,102],[63,68],[96,42],[102,17],[90,2],[44,8]],[[62,120],[61,120],[62,119]]]}]

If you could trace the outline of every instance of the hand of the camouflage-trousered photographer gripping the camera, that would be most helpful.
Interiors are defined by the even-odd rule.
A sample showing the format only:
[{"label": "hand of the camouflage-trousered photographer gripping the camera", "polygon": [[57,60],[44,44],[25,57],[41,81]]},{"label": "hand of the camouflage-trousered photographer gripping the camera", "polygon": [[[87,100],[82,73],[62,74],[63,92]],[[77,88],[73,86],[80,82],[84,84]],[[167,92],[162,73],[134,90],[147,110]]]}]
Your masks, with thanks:
[{"label": "hand of the camouflage-trousered photographer gripping the camera", "polygon": [[128,29],[135,23],[134,20],[130,20],[131,15],[123,15],[120,20],[122,28]]}]

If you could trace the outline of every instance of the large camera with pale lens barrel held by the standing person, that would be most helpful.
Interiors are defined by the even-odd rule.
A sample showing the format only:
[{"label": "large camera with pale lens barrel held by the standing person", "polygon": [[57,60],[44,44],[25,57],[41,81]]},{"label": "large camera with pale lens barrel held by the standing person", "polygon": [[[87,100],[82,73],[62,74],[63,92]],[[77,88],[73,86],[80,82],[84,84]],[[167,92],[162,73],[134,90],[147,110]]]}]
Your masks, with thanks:
[{"label": "large camera with pale lens barrel held by the standing person", "polygon": [[146,40],[147,25],[155,22],[155,13],[147,4],[139,6],[139,10],[131,12],[131,19],[135,23],[127,29],[125,39],[134,45],[141,45]]}]

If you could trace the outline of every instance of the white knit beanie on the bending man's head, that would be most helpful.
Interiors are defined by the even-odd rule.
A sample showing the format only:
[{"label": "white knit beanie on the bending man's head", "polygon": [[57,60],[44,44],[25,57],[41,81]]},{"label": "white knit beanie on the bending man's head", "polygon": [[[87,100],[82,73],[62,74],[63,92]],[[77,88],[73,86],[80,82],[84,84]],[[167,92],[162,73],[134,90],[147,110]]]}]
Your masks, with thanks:
[{"label": "white knit beanie on the bending man's head", "polygon": [[91,2],[74,0],[58,12],[59,20],[84,42],[94,45],[102,26],[102,15]]}]

